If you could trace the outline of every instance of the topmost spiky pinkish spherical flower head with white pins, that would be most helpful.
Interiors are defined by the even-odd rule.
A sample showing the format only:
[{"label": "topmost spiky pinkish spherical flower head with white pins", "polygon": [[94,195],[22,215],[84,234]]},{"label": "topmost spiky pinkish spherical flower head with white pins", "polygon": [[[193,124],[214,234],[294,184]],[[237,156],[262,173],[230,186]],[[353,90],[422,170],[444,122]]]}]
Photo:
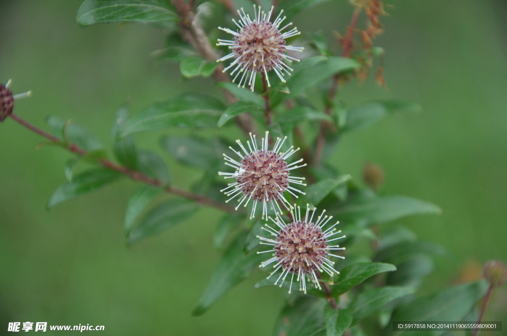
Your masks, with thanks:
[{"label": "topmost spiky pinkish spherical flower head with white pins", "polygon": [[268,87],[270,87],[268,71],[271,70],[278,75],[282,82],[285,82],[283,78],[285,73],[291,75],[291,71],[293,71],[285,62],[299,62],[298,59],[285,55],[285,52],[287,50],[302,51],[303,48],[287,46],[285,39],[299,35],[300,32],[296,27],[282,32],[292,26],[291,22],[280,28],[280,25],[286,19],[285,16],[281,18],[283,10],[280,11],[273,22],[270,22],[273,9],[274,7],[271,7],[269,13],[266,14],[264,11],[261,11],[260,6],[256,9],[256,5],[253,5],[253,12],[255,14],[252,20],[241,8],[241,11],[238,10],[240,17],[238,22],[232,19],[234,24],[239,28],[239,31],[219,27],[219,29],[234,36],[232,40],[219,39],[216,45],[228,46],[232,50],[229,55],[222,57],[218,62],[234,58],[234,61],[224,69],[224,72],[235,66],[234,70],[231,71],[231,75],[236,72],[232,80],[233,82],[238,78],[240,73],[243,73],[239,79],[238,88],[241,84],[243,84],[244,88],[246,82],[248,82],[250,90],[253,91],[257,73],[265,76]]}]

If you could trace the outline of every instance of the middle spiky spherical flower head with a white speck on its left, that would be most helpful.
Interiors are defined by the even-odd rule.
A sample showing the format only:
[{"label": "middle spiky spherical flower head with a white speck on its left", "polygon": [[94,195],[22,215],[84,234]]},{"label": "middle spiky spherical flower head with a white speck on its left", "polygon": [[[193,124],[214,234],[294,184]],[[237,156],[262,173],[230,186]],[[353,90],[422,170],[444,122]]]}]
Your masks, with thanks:
[{"label": "middle spiky spherical flower head with a white speck on its left", "polygon": [[287,163],[286,161],[296,153],[299,148],[294,149],[294,146],[292,146],[286,152],[282,153],[280,149],[285,139],[287,139],[287,137],[285,137],[283,140],[277,138],[273,149],[269,150],[268,137],[269,132],[266,132],[266,138],[262,138],[262,145],[261,148],[259,148],[256,136],[252,136],[250,133],[251,145],[250,141],[246,142],[250,151],[247,151],[241,141],[237,140],[236,142],[244,155],[241,153],[241,150],[236,151],[232,147],[229,148],[240,157],[240,160],[234,160],[224,154],[224,159],[226,160],[225,164],[234,167],[236,171],[234,173],[219,172],[219,175],[225,175],[226,179],[236,179],[236,182],[230,183],[227,188],[221,190],[227,196],[233,195],[226,202],[229,202],[238,195],[242,195],[242,197],[238,199],[239,204],[236,206],[237,210],[245,200],[245,207],[250,199],[253,200],[254,203],[250,219],[255,216],[258,203],[262,203],[262,218],[264,219],[268,213],[268,204],[270,204],[271,208],[278,209],[280,213],[282,211],[278,202],[282,203],[287,209],[291,207],[291,204],[283,197],[285,191],[288,191],[296,198],[298,196],[293,191],[305,194],[301,190],[289,186],[289,183],[306,186],[306,184],[302,183],[304,178],[291,176],[292,170],[306,165],[306,163],[299,166],[296,165],[303,161],[303,159],[293,163]]}]

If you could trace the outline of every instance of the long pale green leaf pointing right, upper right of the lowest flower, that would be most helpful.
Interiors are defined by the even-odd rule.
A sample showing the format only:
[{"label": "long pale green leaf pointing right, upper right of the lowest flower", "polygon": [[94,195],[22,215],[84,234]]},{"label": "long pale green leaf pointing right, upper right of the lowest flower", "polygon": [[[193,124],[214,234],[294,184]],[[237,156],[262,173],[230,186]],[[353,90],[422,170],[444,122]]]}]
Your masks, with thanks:
[{"label": "long pale green leaf pointing right, upper right of the lowest flower", "polygon": [[331,209],[340,221],[381,224],[412,215],[439,215],[442,210],[437,205],[407,196],[381,196],[354,200],[342,207]]}]

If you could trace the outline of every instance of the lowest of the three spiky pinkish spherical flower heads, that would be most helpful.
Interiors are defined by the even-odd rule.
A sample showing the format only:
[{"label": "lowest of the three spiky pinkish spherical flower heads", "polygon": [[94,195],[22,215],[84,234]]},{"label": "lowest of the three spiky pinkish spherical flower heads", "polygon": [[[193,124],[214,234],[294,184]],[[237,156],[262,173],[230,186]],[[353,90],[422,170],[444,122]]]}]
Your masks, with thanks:
[{"label": "lowest of the three spiky pinkish spherical flower heads", "polygon": [[315,210],[316,208],[312,209],[311,217],[308,218],[310,208],[309,204],[306,204],[306,215],[302,218],[301,207],[298,206],[297,211],[291,210],[293,221],[289,224],[286,224],[280,217],[280,214],[277,213],[276,221],[269,217],[277,228],[274,229],[267,224],[263,227],[264,230],[268,231],[275,238],[270,239],[257,236],[261,239],[261,244],[273,246],[271,250],[258,252],[258,254],[273,252],[273,258],[263,262],[260,267],[266,267],[275,263],[273,266],[275,270],[268,276],[268,279],[281,269],[282,272],[275,281],[275,284],[280,281],[280,287],[283,285],[287,275],[292,273],[289,293],[291,292],[295,275],[297,276],[296,281],[299,281],[299,290],[306,293],[307,280],[315,287],[320,288],[317,272],[326,272],[331,276],[333,276],[333,273],[340,274],[340,272],[334,269],[333,265],[335,263],[329,260],[328,256],[345,259],[345,257],[330,253],[333,250],[345,249],[345,247],[340,247],[340,245],[330,245],[331,241],[345,237],[343,235],[338,238],[329,239],[341,232],[341,230],[336,231],[335,229],[335,226],[339,222],[324,230],[323,227],[328,224],[333,216],[324,216],[324,210],[318,216],[315,223],[313,223]]}]

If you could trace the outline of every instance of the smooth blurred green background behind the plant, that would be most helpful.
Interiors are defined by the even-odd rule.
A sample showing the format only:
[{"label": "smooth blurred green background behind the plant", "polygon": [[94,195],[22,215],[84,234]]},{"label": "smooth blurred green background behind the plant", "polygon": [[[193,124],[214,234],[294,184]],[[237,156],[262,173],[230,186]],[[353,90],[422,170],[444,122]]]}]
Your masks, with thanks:
[{"label": "smooth blurred green background behind the plant", "polygon": [[[16,104],[25,119],[44,127],[48,114],[72,118],[110,144],[115,111],[126,99],[136,112],[212,87],[209,79],[182,80],[178,65],[150,56],[163,46],[160,29],[79,27],[80,3],[0,1],[0,82],[13,78],[15,93],[33,90]],[[356,180],[366,161],[379,163],[386,172],[382,193],[443,208],[439,217],[397,223],[455,256],[439,261],[424,284],[428,293],[452,282],[464,262],[507,260],[507,3],[389,4],[385,33],[376,40],[387,52],[389,91],[370,79],[349,83],[341,98],[349,105],[401,98],[420,103],[424,112],[392,115],[344,137],[332,162]],[[351,11],[347,1],[334,0],[294,22],[303,32],[343,32]],[[158,136],[138,135],[139,147],[155,149]],[[218,211],[201,209],[126,248],[123,215],[137,185],[122,180],[46,212],[70,155],[54,147],[35,150],[41,141],[13,120],[0,124],[0,334],[9,321],[101,324],[107,335],[271,333],[284,291],[254,290],[258,273],[205,315],[190,316],[219,258],[211,241]],[[176,185],[198,178],[198,171],[167,161]],[[501,292],[496,309],[505,317]]]}]

